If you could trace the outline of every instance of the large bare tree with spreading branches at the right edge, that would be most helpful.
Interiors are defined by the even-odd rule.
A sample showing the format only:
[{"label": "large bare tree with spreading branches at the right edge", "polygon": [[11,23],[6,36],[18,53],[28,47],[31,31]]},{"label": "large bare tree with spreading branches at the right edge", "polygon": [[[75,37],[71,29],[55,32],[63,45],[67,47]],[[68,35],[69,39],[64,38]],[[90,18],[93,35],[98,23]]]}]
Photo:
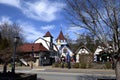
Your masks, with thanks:
[{"label": "large bare tree with spreading branches at the right edge", "polygon": [[[120,0],[66,0],[69,21],[89,30],[106,47],[113,45],[116,79],[120,80]],[[115,55],[117,54],[117,55]]]}]

